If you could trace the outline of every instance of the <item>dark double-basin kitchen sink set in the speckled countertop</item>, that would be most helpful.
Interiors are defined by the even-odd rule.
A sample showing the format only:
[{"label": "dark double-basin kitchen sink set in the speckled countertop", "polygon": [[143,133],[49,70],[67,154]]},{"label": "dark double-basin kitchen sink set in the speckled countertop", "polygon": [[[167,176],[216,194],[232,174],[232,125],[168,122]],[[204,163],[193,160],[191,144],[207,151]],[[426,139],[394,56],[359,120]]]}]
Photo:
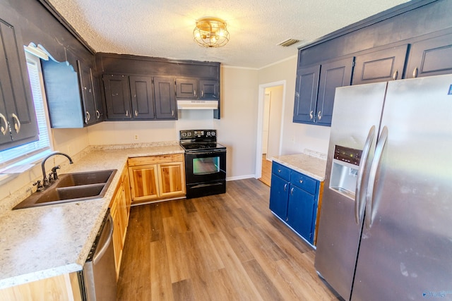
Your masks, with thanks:
[{"label": "dark double-basin kitchen sink set in the speckled countertop", "polygon": [[107,192],[116,172],[116,169],[109,169],[62,174],[59,176],[59,180],[55,180],[44,191],[33,193],[13,209],[101,198]]}]

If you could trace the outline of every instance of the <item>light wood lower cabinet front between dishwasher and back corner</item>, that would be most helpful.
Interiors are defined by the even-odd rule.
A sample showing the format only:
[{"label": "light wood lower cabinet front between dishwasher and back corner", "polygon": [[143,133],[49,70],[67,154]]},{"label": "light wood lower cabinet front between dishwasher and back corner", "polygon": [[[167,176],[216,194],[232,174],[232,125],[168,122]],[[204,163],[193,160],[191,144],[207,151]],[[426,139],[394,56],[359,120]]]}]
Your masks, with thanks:
[{"label": "light wood lower cabinet front between dishwasher and back corner", "polygon": [[112,197],[112,202],[110,202],[110,214],[112,214],[114,225],[113,248],[117,278],[119,277],[122,250],[124,249],[127,226],[129,225],[130,205],[129,171],[127,168],[124,168],[124,171],[121,173],[121,180],[119,180],[116,192],[114,192]]}]

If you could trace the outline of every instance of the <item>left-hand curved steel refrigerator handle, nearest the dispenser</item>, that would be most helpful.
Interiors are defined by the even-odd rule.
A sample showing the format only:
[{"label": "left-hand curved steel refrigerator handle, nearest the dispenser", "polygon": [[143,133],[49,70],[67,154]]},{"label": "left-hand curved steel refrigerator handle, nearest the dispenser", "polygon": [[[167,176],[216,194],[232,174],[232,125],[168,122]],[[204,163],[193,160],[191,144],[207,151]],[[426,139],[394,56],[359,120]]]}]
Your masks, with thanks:
[{"label": "left-hand curved steel refrigerator handle, nearest the dispenser", "polygon": [[367,135],[366,142],[364,143],[364,148],[362,149],[361,161],[359,164],[356,191],[355,191],[355,222],[359,225],[359,221],[362,220],[362,214],[364,214],[363,206],[366,203],[366,195],[362,195],[362,190],[364,186],[364,181],[362,180],[364,176],[364,171],[367,170],[367,161],[369,159],[369,150],[374,141],[375,137],[375,125],[372,125],[369,129],[369,134]]}]

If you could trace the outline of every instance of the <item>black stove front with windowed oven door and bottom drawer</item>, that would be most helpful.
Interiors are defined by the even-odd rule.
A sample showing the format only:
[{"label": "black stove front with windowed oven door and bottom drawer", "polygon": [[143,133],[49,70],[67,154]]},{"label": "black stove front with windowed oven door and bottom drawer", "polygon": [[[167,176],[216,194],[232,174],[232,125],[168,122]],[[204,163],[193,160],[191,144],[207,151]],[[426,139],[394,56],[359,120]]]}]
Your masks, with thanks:
[{"label": "black stove front with windowed oven door and bottom drawer", "polygon": [[185,153],[186,197],[226,192],[226,150]]}]

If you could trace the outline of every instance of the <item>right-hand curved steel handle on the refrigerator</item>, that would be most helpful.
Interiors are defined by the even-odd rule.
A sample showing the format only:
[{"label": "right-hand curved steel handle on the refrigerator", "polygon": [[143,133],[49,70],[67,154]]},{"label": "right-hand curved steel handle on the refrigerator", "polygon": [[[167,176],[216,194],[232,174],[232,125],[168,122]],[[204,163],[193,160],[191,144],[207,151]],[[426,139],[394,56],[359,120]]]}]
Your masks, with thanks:
[{"label": "right-hand curved steel handle on the refrigerator", "polygon": [[374,188],[376,184],[376,171],[378,171],[381,161],[381,154],[383,154],[383,148],[386,145],[386,140],[388,140],[388,128],[386,125],[381,130],[381,135],[379,142],[376,143],[375,156],[370,166],[369,172],[369,187],[367,189],[366,196],[366,228],[370,229],[372,222],[374,221]]}]

